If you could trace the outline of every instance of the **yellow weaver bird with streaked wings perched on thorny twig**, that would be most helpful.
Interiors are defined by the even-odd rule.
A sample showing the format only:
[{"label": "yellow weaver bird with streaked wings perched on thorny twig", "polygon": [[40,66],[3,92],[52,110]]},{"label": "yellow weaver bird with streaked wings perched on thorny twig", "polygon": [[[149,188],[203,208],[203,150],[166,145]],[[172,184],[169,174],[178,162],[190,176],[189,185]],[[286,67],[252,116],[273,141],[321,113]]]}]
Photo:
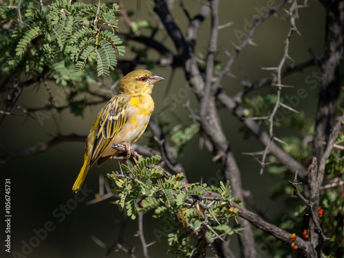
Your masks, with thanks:
[{"label": "yellow weaver bird with streaked wings perched on thorny twig", "polygon": [[119,153],[111,148],[112,144],[124,144],[129,153],[131,144],[147,127],[154,109],[151,91],[160,80],[164,78],[144,69],[129,72],[120,80],[118,94],[100,110],[87,136],[83,167],[74,183],[74,192],[81,188],[96,161],[100,166]]}]

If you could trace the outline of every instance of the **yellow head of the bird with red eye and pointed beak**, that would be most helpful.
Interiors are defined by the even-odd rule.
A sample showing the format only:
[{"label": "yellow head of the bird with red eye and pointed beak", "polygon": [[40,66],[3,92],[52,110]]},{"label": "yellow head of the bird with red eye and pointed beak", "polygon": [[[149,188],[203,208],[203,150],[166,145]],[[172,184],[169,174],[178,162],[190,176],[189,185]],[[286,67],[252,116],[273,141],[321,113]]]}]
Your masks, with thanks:
[{"label": "yellow head of the bird with red eye and pointed beak", "polygon": [[154,83],[158,83],[160,80],[164,80],[164,78],[151,71],[134,70],[120,80],[119,92],[130,95],[151,94]]}]

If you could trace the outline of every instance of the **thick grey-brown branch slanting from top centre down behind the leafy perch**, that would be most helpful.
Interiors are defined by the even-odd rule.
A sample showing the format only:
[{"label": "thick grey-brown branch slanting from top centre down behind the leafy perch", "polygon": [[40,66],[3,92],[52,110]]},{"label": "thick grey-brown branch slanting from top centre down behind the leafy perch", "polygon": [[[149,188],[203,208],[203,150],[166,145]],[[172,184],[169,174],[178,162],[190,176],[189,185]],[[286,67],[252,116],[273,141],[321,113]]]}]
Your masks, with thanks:
[{"label": "thick grey-brown branch slanting from top centre down behind the leafy perch", "polygon": [[[215,3],[213,3],[213,1],[208,1],[208,3],[206,3],[206,6],[214,7]],[[189,41],[186,41],[184,39],[184,36],[180,31],[178,25],[175,23],[174,17],[171,15],[171,12],[167,7],[165,1],[155,0],[155,12],[157,12],[157,14],[159,15],[162,23],[164,24],[164,27],[166,28],[166,31],[171,36],[171,39],[173,40],[173,43],[177,48],[178,54],[182,61],[182,67],[184,69],[186,78],[189,81],[189,84],[191,85],[191,89],[193,90],[193,92],[199,100],[202,99],[202,97],[205,94],[204,91],[206,90],[207,85],[205,85],[204,78],[197,65],[195,53],[193,52],[193,43],[189,43]],[[213,10],[212,15],[215,14],[216,12]],[[214,19],[215,17],[213,18],[213,23],[215,22]],[[194,24],[191,23],[191,25]],[[191,28],[191,25],[189,26],[188,32],[191,29],[193,29]],[[217,30],[217,28],[212,26],[212,30]],[[215,32],[211,32],[211,34],[213,33]],[[210,54],[210,56],[212,56],[212,54]],[[213,66],[211,66],[211,68],[212,67]],[[211,70],[207,74],[207,76],[211,76],[213,74],[213,71]],[[213,79],[208,78],[208,82],[212,81]],[[230,180],[230,182],[233,185],[233,194],[239,198],[241,197],[242,199],[241,178],[239,168],[237,167],[237,163],[235,162],[233,153],[230,150],[228,139],[226,139],[226,136],[222,129],[222,125],[217,114],[215,99],[211,97],[207,101],[204,101],[204,103],[208,107],[206,111],[206,116],[200,118],[199,122],[201,123],[202,129],[206,133],[206,136],[209,138],[213,145],[213,160],[216,160],[224,169],[224,175],[226,176],[226,179]],[[204,107],[202,107],[201,109],[203,108]],[[206,108],[204,108],[204,110],[205,109]],[[254,248],[254,240],[250,224],[245,220],[241,219],[239,219],[239,223],[245,227],[245,230],[241,231],[242,235],[239,236],[241,246],[245,246],[245,248],[241,248],[243,256],[255,257],[256,251]]]}]

